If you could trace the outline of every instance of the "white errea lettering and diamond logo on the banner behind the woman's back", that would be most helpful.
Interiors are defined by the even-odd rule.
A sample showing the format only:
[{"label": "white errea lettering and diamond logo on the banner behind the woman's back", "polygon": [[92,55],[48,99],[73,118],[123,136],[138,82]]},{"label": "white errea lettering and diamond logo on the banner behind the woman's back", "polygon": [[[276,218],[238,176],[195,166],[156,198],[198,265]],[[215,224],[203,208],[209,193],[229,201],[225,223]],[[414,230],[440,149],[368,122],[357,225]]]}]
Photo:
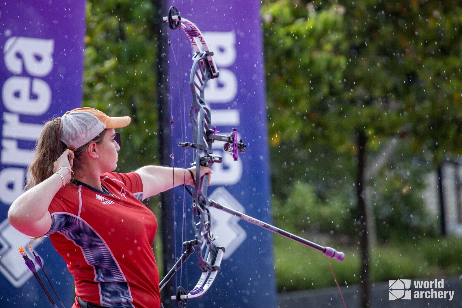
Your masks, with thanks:
[{"label": "white errea lettering and diamond logo on the banner behind the woman's back", "polygon": [[[43,115],[51,105],[50,86],[40,78],[53,69],[54,45],[52,39],[13,36],[3,46],[5,67],[13,73],[1,86],[1,99],[6,110],[2,115],[1,130],[0,202],[7,206],[23,192],[24,167],[33,155],[33,150],[20,148],[19,141],[27,140],[32,144],[43,129],[40,124],[21,122],[20,115]],[[17,257],[19,243],[25,246],[30,243],[30,238],[5,219],[0,223],[0,272],[17,288],[32,276],[24,261]]]}]

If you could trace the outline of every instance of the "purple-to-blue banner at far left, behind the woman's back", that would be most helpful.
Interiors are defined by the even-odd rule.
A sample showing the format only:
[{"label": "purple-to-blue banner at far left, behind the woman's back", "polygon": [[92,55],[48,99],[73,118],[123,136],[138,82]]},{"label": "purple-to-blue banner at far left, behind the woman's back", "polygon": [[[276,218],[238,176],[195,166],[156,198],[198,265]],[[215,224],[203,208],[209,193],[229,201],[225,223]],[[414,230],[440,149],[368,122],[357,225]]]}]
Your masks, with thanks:
[{"label": "purple-to-blue banner at far left, behind the woman's back", "polygon": [[67,307],[73,302],[72,276],[49,240],[31,242],[12,228],[6,213],[24,189],[25,167],[43,123],[80,107],[84,33],[85,1],[0,3],[1,307],[51,307],[18,253],[19,246],[29,253],[29,243],[42,256],[45,271],[61,300]]}]

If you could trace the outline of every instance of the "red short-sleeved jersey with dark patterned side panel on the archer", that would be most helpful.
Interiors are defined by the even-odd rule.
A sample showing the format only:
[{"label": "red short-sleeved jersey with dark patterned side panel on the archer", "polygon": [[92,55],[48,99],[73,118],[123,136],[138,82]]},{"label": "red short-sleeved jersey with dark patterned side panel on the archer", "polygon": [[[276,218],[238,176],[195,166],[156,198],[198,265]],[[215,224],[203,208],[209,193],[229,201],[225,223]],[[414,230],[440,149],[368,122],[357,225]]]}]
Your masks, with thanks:
[{"label": "red short-sleeved jersey with dark patterned side panel on the archer", "polygon": [[78,184],[56,193],[47,233],[74,276],[76,296],[104,307],[160,307],[157,220],[141,203],[140,175],[104,173],[104,191]]}]

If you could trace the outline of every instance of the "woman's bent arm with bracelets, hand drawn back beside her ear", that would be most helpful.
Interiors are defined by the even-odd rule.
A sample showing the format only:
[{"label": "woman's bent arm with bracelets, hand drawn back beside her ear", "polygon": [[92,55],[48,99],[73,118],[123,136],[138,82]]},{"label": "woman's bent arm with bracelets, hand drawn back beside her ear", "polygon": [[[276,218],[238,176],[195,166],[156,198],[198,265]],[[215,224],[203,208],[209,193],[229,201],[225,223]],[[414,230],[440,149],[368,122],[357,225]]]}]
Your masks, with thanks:
[{"label": "woman's bent arm with bracelets, hand drawn back beside her ear", "polygon": [[[60,167],[72,168],[74,153],[64,151],[53,163],[53,175],[30,188],[16,199],[8,211],[9,223],[28,236],[43,236],[51,227],[51,215],[48,208],[55,194],[62,187],[62,178],[56,174]],[[59,173],[66,183],[71,180],[71,171],[61,168]]]}]

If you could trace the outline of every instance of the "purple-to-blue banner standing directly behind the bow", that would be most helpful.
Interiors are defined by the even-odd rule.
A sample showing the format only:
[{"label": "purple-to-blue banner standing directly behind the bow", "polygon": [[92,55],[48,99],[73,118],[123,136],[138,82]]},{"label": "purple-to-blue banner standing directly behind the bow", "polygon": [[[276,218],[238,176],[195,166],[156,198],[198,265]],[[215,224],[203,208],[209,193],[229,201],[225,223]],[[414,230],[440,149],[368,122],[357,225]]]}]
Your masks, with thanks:
[{"label": "purple-to-blue banner standing directly behind the bow", "polygon": [[[219,78],[211,79],[205,90],[205,101],[212,110],[212,125],[225,134],[237,127],[239,138],[247,144],[246,152],[240,154],[238,161],[223,151],[223,143],[213,144],[213,154],[222,156],[223,162],[213,164],[209,199],[271,223],[260,1],[170,0],[170,5],[177,7],[182,18],[198,26],[214,53]],[[167,12],[164,12],[166,15]],[[173,31],[165,24],[167,30],[171,41],[169,60],[175,166],[182,167],[182,158],[186,156],[188,167],[193,161],[192,150],[183,152],[176,145],[192,141],[189,123],[191,91],[188,84],[192,48],[180,29]],[[186,130],[184,118],[187,119]],[[176,189],[175,196],[176,223],[180,226],[176,234],[178,257],[182,249],[179,240],[182,238],[181,188]],[[186,208],[190,207],[191,200],[187,199]],[[219,210],[210,211],[212,233],[218,236],[214,243],[225,247],[225,255],[213,286],[204,297],[189,300],[188,307],[276,307],[270,232]],[[191,211],[188,210],[188,231],[184,240],[194,238],[190,217]],[[188,290],[194,288],[200,277],[196,263],[197,257],[192,255],[188,260],[188,279],[184,274],[182,279],[177,279],[178,284],[180,281],[185,287],[188,284]],[[184,272],[185,266],[182,269]],[[166,294],[164,302],[172,295]]]}]

